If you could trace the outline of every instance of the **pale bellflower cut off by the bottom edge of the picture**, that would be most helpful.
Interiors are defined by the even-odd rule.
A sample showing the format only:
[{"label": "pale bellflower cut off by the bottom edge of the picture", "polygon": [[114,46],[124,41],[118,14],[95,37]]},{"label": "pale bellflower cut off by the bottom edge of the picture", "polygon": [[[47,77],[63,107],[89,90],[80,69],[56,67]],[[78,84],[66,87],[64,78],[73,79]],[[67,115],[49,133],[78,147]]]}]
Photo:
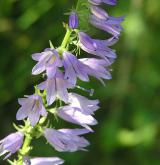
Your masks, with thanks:
[{"label": "pale bellflower cut off by the bottom edge of the picture", "polygon": [[58,157],[37,157],[30,161],[31,165],[59,165],[64,163],[64,160]]}]

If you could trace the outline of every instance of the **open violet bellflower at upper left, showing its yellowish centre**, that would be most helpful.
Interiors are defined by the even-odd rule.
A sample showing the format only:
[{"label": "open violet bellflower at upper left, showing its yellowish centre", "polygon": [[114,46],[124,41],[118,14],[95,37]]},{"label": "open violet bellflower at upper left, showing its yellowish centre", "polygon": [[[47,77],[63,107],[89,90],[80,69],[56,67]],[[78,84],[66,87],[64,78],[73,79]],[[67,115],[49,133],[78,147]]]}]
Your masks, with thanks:
[{"label": "open violet bellflower at upper left, showing its yellowish centre", "polygon": [[47,48],[44,52],[35,53],[32,58],[38,63],[33,67],[32,74],[37,75],[46,70],[48,77],[55,76],[57,68],[62,66],[59,54],[55,49]]}]

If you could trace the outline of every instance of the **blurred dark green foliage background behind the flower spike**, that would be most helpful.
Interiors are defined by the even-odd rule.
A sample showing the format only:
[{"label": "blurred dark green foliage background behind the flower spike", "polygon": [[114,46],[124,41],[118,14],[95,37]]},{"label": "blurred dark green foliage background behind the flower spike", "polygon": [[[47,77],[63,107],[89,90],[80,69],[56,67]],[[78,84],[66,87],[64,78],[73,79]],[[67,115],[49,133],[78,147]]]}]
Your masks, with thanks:
[{"label": "blurred dark green foliage background behind the flower spike", "polygon": [[[55,46],[61,43],[62,22],[68,19],[63,13],[75,4],[76,0],[0,0],[1,139],[14,131],[12,122],[18,123],[17,98],[32,94],[39,81],[31,76],[35,64],[31,54],[48,47],[49,39]],[[119,0],[107,9],[126,19],[114,46],[118,58],[113,79],[105,88],[94,79],[81,83],[95,88],[94,98],[101,102],[95,116],[99,124],[86,136],[89,151],[57,153],[42,138],[33,142],[32,155],[57,155],[66,165],[160,165],[160,1]],[[96,36],[104,33],[98,31]]]}]

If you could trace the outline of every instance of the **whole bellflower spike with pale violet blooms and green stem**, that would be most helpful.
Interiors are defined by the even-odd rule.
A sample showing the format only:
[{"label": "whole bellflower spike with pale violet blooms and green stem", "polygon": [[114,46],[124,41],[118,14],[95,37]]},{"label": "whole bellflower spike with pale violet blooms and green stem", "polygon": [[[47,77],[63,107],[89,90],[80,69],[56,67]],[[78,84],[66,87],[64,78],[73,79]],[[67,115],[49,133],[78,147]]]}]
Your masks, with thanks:
[{"label": "whole bellflower spike with pale violet blooms and green stem", "polygon": [[[111,17],[101,8],[102,5],[116,5],[116,0],[78,0],[77,6],[70,12],[68,24],[64,24],[66,34],[62,44],[54,48],[45,48],[40,53],[32,54],[36,61],[32,75],[42,75],[44,79],[34,86],[34,93],[18,99],[20,108],[16,119],[23,120],[24,125],[15,125],[17,130],[0,141],[0,156],[7,154],[11,165],[60,165],[64,160],[58,157],[32,157],[30,151],[33,139],[44,137],[56,151],[75,152],[86,150],[89,141],[83,136],[94,132],[91,126],[98,122],[95,111],[99,109],[99,100],[88,99],[74,93],[74,88],[93,94],[93,89],[87,90],[78,85],[78,79],[90,81],[95,77],[105,84],[111,79],[109,67],[116,60],[114,45],[122,30],[123,17]],[[97,39],[91,37],[89,30],[81,28],[79,8],[87,8],[86,24],[93,25],[108,33],[109,38]],[[83,51],[81,51],[83,50]],[[86,52],[86,58],[80,55]],[[78,128],[55,128],[50,118],[62,119]],[[57,120],[56,120],[57,121]],[[9,157],[17,152],[14,160]]]}]

